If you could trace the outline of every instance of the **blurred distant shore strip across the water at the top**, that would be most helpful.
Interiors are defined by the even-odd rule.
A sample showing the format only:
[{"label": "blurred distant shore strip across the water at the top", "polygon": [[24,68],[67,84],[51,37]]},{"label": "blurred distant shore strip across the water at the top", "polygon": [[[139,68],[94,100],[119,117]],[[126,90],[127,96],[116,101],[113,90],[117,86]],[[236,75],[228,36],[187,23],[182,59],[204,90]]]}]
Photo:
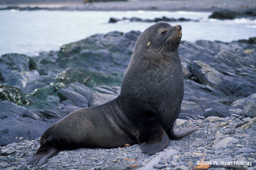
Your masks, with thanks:
[{"label": "blurred distant shore strip across the water at the top", "polygon": [[27,3],[0,5],[0,8],[8,6],[38,7],[51,10],[101,10],[101,11],[215,11],[218,9],[246,10],[256,8],[256,0],[154,0],[154,1],[127,1],[127,2],[96,2],[84,4],[82,2],[58,2],[58,3]]}]

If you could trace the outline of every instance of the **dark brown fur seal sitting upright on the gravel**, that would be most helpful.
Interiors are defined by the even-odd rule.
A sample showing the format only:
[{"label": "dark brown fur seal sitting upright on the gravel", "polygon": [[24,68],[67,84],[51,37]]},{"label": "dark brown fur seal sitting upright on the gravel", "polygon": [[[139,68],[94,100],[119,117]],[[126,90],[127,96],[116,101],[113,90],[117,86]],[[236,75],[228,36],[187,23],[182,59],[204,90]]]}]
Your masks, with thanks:
[{"label": "dark brown fur seal sitting upright on the gravel", "polygon": [[83,108],[49,127],[27,164],[41,165],[60,150],[114,148],[140,144],[143,152],[163,150],[197,128],[173,130],[184,85],[180,57],[181,26],[159,22],[138,38],[121,93],[103,105]]}]

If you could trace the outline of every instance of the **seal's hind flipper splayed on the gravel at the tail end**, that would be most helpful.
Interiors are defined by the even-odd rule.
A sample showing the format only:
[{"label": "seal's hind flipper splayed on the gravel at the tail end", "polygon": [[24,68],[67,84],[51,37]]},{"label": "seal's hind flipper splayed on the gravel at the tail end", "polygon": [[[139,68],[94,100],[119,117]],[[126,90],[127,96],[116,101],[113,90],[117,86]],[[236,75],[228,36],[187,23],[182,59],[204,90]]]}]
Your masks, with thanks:
[{"label": "seal's hind flipper splayed on the gravel at the tail end", "polygon": [[42,165],[49,157],[55,155],[57,152],[58,150],[54,147],[48,148],[47,152],[40,153],[40,150],[39,150],[39,152],[37,151],[35,155],[29,157],[26,164],[37,165],[37,166]]}]

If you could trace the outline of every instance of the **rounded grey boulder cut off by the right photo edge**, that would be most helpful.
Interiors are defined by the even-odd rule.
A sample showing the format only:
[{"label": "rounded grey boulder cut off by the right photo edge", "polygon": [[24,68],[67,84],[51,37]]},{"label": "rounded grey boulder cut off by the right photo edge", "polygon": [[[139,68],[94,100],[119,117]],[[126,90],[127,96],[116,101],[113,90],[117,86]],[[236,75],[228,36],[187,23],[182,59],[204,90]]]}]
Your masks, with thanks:
[{"label": "rounded grey boulder cut off by the right photo edge", "polygon": [[244,100],[244,115],[251,118],[256,117],[256,94],[252,94]]}]

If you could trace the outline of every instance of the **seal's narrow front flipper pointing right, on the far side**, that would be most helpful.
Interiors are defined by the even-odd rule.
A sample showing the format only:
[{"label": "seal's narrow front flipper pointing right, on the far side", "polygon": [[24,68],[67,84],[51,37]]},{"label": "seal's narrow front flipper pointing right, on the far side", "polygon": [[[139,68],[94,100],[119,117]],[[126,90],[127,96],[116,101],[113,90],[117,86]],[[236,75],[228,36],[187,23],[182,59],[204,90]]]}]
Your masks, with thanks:
[{"label": "seal's narrow front flipper pointing right, on the far side", "polygon": [[189,135],[190,133],[194,132],[195,130],[198,130],[198,127],[174,130],[173,126],[172,126],[172,128],[167,131],[167,134],[169,136],[169,139],[178,140],[178,139],[181,139],[181,138]]}]

